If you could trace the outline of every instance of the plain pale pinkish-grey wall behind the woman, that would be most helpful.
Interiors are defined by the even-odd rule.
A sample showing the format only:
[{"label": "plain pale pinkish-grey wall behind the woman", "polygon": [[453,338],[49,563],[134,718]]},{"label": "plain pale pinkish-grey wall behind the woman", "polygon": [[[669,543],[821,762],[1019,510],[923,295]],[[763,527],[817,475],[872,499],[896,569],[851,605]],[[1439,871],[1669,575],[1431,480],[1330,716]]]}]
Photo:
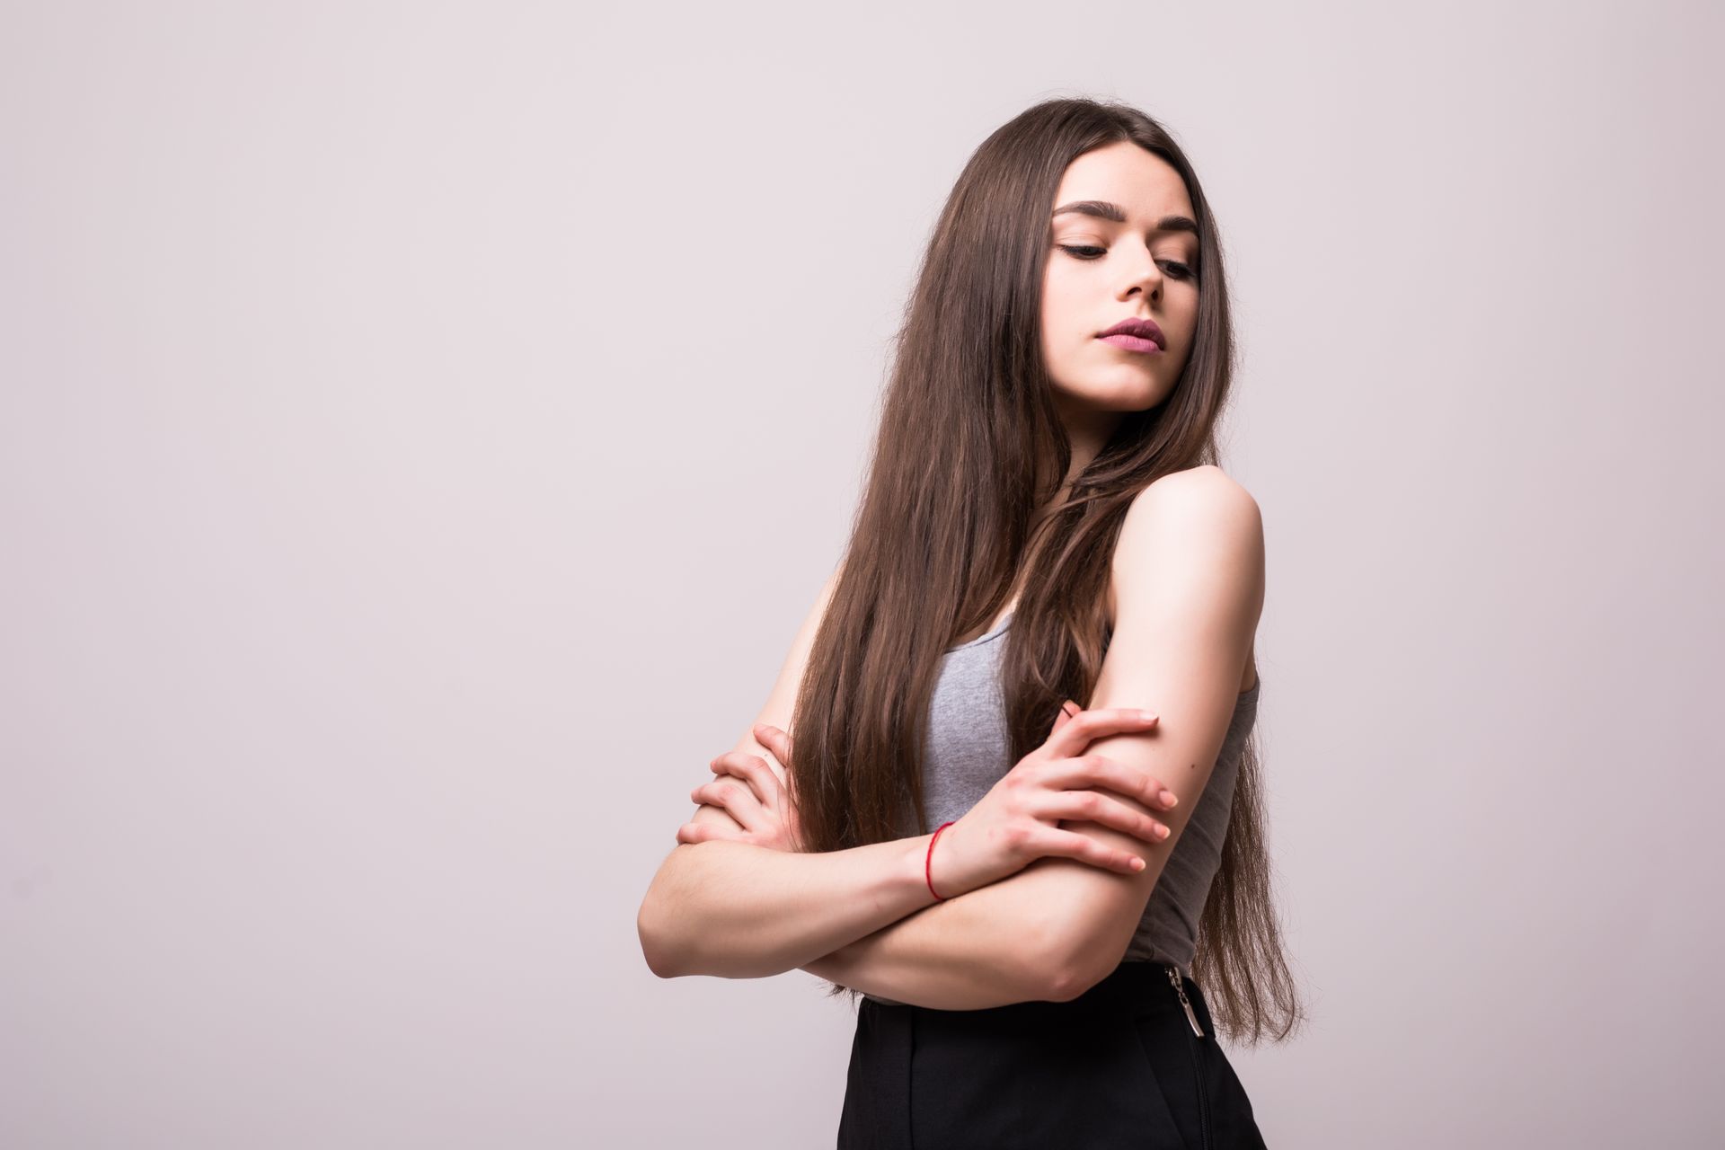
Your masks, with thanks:
[{"label": "plain pale pinkish-grey wall behind the woman", "polygon": [[1270,1145],[1718,1145],[1720,33],[5,5],[0,1143],[831,1145],[844,1002],[635,912],[952,179],[1094,95],[1232,260]]}]

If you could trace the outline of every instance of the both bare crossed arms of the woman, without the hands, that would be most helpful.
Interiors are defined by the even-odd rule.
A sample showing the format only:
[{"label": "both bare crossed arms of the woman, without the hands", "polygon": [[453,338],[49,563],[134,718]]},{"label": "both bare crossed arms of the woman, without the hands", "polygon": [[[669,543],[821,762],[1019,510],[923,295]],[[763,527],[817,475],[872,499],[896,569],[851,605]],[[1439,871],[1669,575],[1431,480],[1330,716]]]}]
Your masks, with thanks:
[{"label": "both bare crossed arms of the woman, without the hands", "polygon": [[[928,834],[826,853],[743,841],[680,843],[642,902],[637,928],[656,974],[764,978],[804,969],[914,1005],[969,1010],[1068,1000],[1118,966],[1163,866],[1209,781],[1233,716],[1263,610],[1258,505],[1216,467],[1164,476],[1126,512],[1113,555],[1114,631],[1087,709],[1149,705],[1161,724],[1113,734],[1088,752],[1138,767],[1173,790],[1171,810],[1138,807],[1170,828],[1161,843],[1097,822],[1063,822],[1145,860],[1120,874],[1042,857],[1021,871],[935,902],[923,879]],[[831,597],[804,621],[761,721],[788,728],[814,631]],[[783,779],[783,766],[747,734]],[[695,821],[737,822],[702,805]]]}]

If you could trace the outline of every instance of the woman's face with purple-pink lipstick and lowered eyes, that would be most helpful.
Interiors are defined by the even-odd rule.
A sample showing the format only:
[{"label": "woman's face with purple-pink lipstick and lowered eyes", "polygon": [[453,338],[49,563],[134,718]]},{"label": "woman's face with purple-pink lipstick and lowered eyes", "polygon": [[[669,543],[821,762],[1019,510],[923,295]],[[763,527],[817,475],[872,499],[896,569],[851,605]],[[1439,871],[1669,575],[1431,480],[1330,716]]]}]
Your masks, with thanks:
[{"label": "woman's face with purple-pink lipstick and lowered eyes", "polygon": [[[1042,357],[1068,419],[1156,407],[1173,391],[1197,326],[1197,233],[1180,174],[1135,143],[1085,152],[1054,197],[1042,279]],[[1114,219],[1114,217],[1120,219]],[[1147,319],[1161,348],[1102,338]]]}]

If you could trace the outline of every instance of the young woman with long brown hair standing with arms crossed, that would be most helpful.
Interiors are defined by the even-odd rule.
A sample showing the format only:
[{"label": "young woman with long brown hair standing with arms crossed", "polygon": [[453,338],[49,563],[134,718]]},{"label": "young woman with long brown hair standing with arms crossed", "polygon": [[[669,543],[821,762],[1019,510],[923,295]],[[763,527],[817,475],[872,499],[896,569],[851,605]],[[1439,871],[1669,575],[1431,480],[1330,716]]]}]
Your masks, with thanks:
[{"label": "young woman with long brown hair standing with arms crossed", "polygon": [[842,1148],[1263,1145],[1218,1038],[1302,1007],[1232,367],[1216,222],[1156,121],[1051,100],[976,150],[847,553],[638,919],[661,976],[861,997]]}]

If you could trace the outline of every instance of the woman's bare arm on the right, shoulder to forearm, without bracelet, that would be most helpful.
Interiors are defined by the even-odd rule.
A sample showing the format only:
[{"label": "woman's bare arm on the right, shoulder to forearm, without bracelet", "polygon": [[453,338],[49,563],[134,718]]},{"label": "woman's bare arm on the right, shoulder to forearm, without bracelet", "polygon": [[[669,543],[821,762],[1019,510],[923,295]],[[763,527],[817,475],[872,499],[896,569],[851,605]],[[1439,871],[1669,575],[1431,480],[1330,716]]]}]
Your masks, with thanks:
[{"label": "woman's bare arm on the right, shoulder to forearm, without bracelet", "polygon": [[[1149,866],[1126,876],[1073,859],[1037,859],[1018,874],[925,907],[804,971],[899,1002],[963,1010],[1026,997],[1070,1000],[1125,957],[1233,717],[1264,600],[1258,503],[1218,467],[1152,483],[1121,526],[1113,579],[1116,626],[1088,705],[1152,705],[1163,721],[1152,733],[1101,738],[1087,753],[1142,766],[1180,802],[1166,812],[1144,809],[1168,824],[1161,843],[1097,822],[1068,821],[1061,828],[1132,848]],[[1130,797],[1121,802],[1137,805]],[[987,979],[990,960],[1002,964],[1025,947],[1037,955],[1033,993]],[[982,981],[969,986],[968,979],[978,976]]]}]

